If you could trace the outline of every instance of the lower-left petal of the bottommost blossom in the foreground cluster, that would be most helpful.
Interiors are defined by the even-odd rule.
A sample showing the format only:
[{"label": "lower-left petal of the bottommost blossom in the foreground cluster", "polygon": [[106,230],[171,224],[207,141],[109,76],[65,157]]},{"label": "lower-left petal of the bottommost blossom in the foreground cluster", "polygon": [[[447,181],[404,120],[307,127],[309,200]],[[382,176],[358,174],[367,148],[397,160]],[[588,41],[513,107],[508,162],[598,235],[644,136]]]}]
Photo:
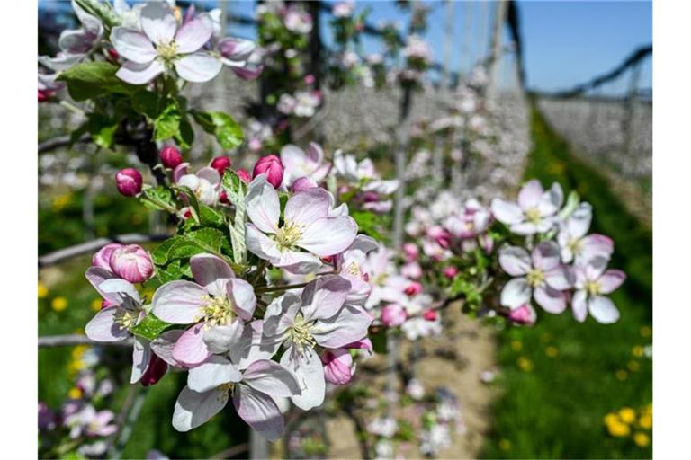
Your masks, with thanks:
[{"label": "lower-left petal of the bottommost blossom in the foreground cluster", "polygon": [[197,428],[226,407],[226,403],[228,390],[197,393],[185,386],[175,402],[173,428],[178,431]]}]

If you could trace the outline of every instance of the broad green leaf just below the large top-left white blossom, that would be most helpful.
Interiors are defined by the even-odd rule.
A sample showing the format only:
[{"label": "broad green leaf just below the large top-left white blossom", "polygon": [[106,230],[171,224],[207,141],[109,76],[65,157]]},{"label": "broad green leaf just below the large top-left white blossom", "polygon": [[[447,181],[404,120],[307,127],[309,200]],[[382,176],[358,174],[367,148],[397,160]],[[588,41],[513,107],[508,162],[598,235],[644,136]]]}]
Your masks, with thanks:
[{"label": "broad green leaf just below the large top-left white blossom", "polygon": [[83,62],[59,73],[57,80],[67,83],[67,91],[75,101],[85,101],[103,94],[133,94],[141,86],[127,84],[115,76],[117,66],[108,62]]}]

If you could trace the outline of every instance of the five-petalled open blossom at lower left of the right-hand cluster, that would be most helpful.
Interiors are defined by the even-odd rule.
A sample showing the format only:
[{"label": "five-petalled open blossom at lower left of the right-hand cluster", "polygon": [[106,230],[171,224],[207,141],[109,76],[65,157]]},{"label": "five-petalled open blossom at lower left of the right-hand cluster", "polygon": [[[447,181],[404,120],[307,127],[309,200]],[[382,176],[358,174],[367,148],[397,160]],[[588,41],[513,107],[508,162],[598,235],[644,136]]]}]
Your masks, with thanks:
[{"label": "five-petalled open blossom at lower left of the right-hand cluster", "polygon": [[517,246],[508,246],[499,251],[499,265],[510,279],[501,291],[501,305],[512,310],[527,304],[534,296],[538,305],[553,314],[560,314],[566,308],[564,289],[573,285],[573,276],[568,267],[561,265],[559,246],[544,241],[535,246],[532,254]]}]

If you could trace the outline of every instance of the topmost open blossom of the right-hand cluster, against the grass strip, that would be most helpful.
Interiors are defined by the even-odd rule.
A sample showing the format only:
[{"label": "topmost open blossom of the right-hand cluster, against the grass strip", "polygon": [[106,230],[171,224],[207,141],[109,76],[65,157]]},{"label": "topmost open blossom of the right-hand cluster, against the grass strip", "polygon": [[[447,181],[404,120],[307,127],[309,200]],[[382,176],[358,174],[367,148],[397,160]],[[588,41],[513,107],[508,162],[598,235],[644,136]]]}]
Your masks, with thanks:
[{"label": "topmost open blossom of the right-hand cluster, against the grass strip", "polygon": [[555,224],[555,215],[563,202],[558,183],[543,191],[539,181],[528,181],[518,193],[518,202],[492,200],[492,214],[515,234],[545,233]]}]

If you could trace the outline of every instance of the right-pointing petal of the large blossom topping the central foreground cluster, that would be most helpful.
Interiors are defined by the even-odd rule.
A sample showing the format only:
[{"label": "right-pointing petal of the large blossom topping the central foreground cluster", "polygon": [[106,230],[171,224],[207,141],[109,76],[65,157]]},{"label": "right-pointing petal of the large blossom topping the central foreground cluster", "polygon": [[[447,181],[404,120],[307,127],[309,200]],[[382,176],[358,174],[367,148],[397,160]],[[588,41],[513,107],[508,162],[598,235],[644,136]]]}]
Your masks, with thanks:
[{"label": "right-pointing petal of the large blossom topping the central foreground cluster", "polygon": [[346,251],[356,235],[357,224],[352,217],[322,217],[304,229],[298,245],[319,257],[328,257]]}]

